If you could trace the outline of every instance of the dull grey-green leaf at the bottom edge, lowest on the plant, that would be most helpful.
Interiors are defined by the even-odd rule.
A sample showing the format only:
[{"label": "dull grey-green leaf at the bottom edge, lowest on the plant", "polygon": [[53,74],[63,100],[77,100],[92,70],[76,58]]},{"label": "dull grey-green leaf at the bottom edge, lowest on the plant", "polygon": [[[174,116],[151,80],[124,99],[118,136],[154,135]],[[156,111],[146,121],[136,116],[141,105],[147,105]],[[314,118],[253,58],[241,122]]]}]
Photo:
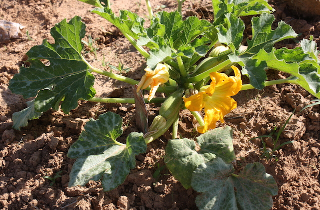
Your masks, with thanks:
[{"label": "dull grey-green leaf at the bottom edge, lowest on the plant", "polygon": [[260,163],[248,164],[233,175],[232,164],[222,159],[203,163],[193,172],[191,186],[202,193],[195,203],[199,210],[269,210],[277,186]]}]

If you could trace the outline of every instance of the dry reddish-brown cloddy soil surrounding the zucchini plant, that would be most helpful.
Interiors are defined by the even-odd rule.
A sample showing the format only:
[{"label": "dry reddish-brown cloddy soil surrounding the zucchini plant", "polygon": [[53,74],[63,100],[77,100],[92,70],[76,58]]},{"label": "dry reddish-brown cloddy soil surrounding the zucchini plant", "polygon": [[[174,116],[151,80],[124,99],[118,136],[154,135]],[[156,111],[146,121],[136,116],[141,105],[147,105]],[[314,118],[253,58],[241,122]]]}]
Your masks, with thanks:
[{"label": "dry reddish-brown cloddy soil surrounding the zucchini plant", "polygon": [[[151,1],[154,10],[173,10],[175,0]],[[281,1],[269,2],[275,8],[276,20],[290,24],[297,39],[314,36],[320,43],[320,18],[301,19]],[[162,6],[163,5],[163,6]],[[129,9],[146,17],[143,0],[111,0],[114,11]],[[163,8],[164,7],[164,8]],[[97,119],[107,111],[119,114],[124,120],[125,131],[137,130],[134,121],[135,107],[131,104],[103,104],[79,101],[69,114],[48,110],[20,131],[12,129],[12,114],[26,107],[26,101],[12,94],[7,88],[9,80],[18,73],[24,54],[42,39],[53,42],[49,29],[63,18],[74,15],[86,23],[86,34],[95,40],[96,55],[84,52],[95,67],[109,70],[107,65],[119,62],[130,71],[117,72],[139,80],[145,61],[123,35],[110,23],[90,13],[92,6],[76,0],[1,0],[0,18],[24,26],[21,37],[0,44],[0,209],[2,210],[195,210],[197,193],[185,190],[164,166],[164,148],[170,135],[163,135],[148,145],[147,152],[136,156],[136,169],[131,170],[125,182],[118,188],[103,192],[99,182],[90,181],[85,187],[68,188],[68,174],[74,162],[66,157],[70,145],[75,142],[89,117]],[[210,0],[186,0],[183,15],[212,18]],[[320,15],[320,14],[319,14]],[[245,19],[244,19],[245,20]],[[28,31],[28,35],[27,35]],[[249,33],[248,33],[249,34]],[[87,36],[85,38],[87,41]],[[293,40],[285,40],[277,47],[293,48]],[[131,97],[131,87],[113,79],[95,75],[96,96]],[[268,79],[285,75],[268,71]],[[225,123],[233,128],[236,153],[234,167],[241,170],[246,164],[260,162],[273,176],[279,188],[273,197],[272,210],[320,209],[320,108],[313,106],[298,113],[314,97],[302,88],[289,85],[273,85],[261,91],[242,91],[234,97],[238,107],[225,116]],[[158,105],[148,105],[150,118]],[[296,109],[282,132],[278,144],[293,140],[275,152],[276,159],[263,158],[262,142],[251,138],[267,135],[279,128]],[[149,120],[151,121],[151,120]],[[179,134],[193,138],[192,117],[181,111]],[[273,148],[271,139],[266,139]],[[161,169],[161,170],[160,170]],[[154,172],[160,176],[153,178]],[[54,182],[44,176],[56,178]]]}]

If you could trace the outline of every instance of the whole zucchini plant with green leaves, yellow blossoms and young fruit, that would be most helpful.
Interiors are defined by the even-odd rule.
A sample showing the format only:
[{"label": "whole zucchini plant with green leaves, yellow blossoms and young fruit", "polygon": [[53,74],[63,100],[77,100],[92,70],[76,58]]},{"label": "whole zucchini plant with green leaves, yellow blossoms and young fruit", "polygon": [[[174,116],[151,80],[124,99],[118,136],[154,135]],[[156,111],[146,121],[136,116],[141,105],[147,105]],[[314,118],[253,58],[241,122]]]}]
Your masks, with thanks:
[{"label": "whole zucchini plant with green leaves, yellow blossoms and young fruit", "polygon": [[[136,102],[139,121],[145,129],[143,133],[130,133],[125,144],[116,141],[122,134],[122,119],[118,115],[107,112],[86,123],[67,154],[76,159],[69,186],[100,180],[105,191],[116,188],[135,167],[135,155],[145,153],[148,143],[172,127],[165,164],[184,188],[201,193],[196,198],[200,210],[270,209],[271,197],[277,194],[274,179],[259,163],[248,164],[234,174],[232,130],[227,126],[215,128],[215,124],[223,122],[223,116],[236,108],[231,96],[239,91],[292,83],[320,98],[320,66],[312,38],[301,40],[300,47],[294,49],[274,48],[276,42],[297,34],[283,21],[271,29],[273,9],[266,0],[212,0],[212,22],[195,16],[183,18],[184,0],[178,0],[176,11],[155,14],[146,0],[148,26],[143,18],[128,10],[121,10],[116,16],[108,0],[81,1],[96,6],[92,12],[114,24],[144,56],[145,75],[136,81],[91,66],[81,54],[85,24],[79,16],[68,22],[64,19],[51,29],[54,44],[43,40],[41,45],[33,46],[26,53],[30,65],[22,66],[10,80],[13,93],[35,97],[27,108],[13,114],[13,127],[26,126],[28,120],[38,118],[48,109],[68,113],[77,107],[78,100]],[[248,15],[253,16],[252,38],[244,41],[245,25],[240,17]],[[49,65],[41,59],[48,60]],[[266,71],[270,68],[290,76],[267,81]],[[137,97],[95,97],[92,72],[137,85]],[[241,74],[249,78],[248,84],[242,84]],[[141,89],[149,91],[147,99],[141,99]],[[155,92],[164,92],[166,98],[154,98]],[[159,115],[149,127],[145,126],[144,102],[162,103]],[[199,150],[195,150],[193,140],[177,138],[180,109],[188,109],[198,121]]]}]

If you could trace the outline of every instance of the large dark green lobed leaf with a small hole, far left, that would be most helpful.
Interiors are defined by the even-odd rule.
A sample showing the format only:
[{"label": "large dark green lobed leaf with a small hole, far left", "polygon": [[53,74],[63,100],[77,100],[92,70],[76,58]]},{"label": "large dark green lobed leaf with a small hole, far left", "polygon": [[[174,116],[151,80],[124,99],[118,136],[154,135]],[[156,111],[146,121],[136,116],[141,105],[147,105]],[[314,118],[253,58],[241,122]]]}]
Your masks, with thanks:
[{"label": "large dark green lobed leaf with a small hole, far left", "polygon": [[[21,67],[20,73],[10,80],[9,88],[24,98],[34,97],[35,111],[43,112],[57,108],[68,113],[77,107],[78,99],[88,100],[95,95],[94,77],[88,72],[86,61],[81,56],[85,25],[80,17],[73,17],[68,23],[62,20],[51,29],[54,44],[43,40],[33,46],[26,55],[30,67]],[[42,63],[40,59],[48,62]]]}]

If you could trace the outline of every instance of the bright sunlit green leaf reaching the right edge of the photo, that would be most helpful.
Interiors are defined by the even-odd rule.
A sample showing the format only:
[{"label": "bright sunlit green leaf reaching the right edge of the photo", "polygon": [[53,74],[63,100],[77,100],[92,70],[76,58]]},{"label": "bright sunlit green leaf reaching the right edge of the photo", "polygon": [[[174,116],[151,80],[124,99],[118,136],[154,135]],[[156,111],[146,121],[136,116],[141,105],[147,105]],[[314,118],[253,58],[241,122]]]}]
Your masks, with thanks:
[{"label": "bright sunlit green leaf reaching the right edge of the photo", "polygon": [[[295,49],[272,49],[267,53],[261,49],[253,59],[265,60],[267,67],[289,73],[297,79],[292,79],[292,83],[296,83],[307,90],[317,98],[320,98],[320,66],[316,60],[309,60],[311,57],[303,55],[301,48]],[[297,59],[303,59],[295,62]]]}]

